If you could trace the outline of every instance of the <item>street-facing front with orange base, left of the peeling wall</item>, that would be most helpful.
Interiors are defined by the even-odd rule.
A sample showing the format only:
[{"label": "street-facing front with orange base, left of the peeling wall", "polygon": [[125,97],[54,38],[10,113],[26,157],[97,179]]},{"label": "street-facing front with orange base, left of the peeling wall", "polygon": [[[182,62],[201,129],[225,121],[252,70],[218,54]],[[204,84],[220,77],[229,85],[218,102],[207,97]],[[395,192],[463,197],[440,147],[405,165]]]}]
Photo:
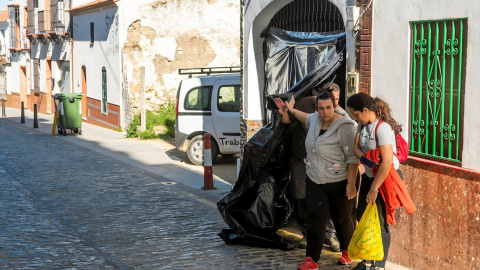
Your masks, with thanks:
[{"label": "street-facing front with orange base, left of the peeling wall", "polygon": [[73,21],[73,81],[82,93],[84,120],[111,129],[122,126],[122,64],[116,1],[81,1],[69,10]]}]

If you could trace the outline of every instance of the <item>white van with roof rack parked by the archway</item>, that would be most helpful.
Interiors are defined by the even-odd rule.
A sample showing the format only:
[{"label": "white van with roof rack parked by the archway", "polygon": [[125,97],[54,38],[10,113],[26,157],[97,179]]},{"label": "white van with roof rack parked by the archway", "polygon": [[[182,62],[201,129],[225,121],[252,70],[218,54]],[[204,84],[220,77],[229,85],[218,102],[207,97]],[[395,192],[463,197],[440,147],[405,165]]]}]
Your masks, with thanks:
[{"label": "white van with roof rack parked by the archway", "polygon": [[[175,145],[203,164],[203,135],[210,133],[212,161],[240,153],[240,68],[179,69]],[[229,74],[230,73],[230,74]],[[192,75],[198,76],[193,77]]]}]

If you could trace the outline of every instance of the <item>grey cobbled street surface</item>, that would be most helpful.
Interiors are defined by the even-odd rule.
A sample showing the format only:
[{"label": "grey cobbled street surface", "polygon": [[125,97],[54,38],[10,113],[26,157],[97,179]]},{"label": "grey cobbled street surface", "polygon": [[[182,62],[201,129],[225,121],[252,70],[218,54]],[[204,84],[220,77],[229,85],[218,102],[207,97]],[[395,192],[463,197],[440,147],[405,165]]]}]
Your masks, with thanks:
[{"label": "grey cobbled street surface", "polygon": [[[226,245],[216,197],[100,144],[4,119],[0,138],[0,269],[295,269],[304,256]],[[350,268],[336,257],[321,269]]]}]

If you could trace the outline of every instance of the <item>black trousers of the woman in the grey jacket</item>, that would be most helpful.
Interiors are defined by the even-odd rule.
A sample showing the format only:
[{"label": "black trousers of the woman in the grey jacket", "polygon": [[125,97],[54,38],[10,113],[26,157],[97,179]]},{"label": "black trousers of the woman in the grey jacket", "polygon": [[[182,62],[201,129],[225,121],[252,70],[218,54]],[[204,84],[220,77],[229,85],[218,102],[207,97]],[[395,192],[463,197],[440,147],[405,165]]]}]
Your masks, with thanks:
[{"label": "black trousers of the woman in the grey jacket", "polygon": [[326,237],[328,211],[337,229],[340,249],[345,250],[353,236],[352,208],[354,199],[347,198],[347,180],[318,185],[307,177],[307,252],[315,262],[320,259]]}]

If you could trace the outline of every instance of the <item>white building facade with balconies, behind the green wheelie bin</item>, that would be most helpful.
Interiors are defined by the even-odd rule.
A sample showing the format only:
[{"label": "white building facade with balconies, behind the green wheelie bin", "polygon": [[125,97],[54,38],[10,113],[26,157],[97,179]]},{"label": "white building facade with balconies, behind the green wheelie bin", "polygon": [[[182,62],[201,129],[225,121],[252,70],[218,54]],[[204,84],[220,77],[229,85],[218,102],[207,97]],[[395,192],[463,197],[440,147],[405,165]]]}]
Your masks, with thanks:
[{"label": "white building facade with balconies, behind the green wheelie bin", "polygon": [[32,80],[30,102],[41,113],[54,113],[52,95],[71,93],[70,0],[28,1],[27,37],[30,40]]}]

